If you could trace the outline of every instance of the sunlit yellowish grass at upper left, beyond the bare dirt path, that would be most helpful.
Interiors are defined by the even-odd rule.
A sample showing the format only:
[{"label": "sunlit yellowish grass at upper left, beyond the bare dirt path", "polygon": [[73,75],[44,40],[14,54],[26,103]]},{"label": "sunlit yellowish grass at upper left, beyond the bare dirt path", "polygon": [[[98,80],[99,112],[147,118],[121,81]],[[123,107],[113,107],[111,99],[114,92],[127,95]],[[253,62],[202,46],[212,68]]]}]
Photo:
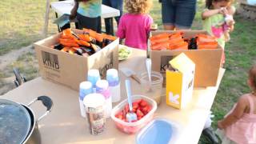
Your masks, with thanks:
[{"label": "sunlit yellowish grass at upper left, beyond the bare dirt path", "polygon": [[[0,1],[0,55],[42,39],[45,12],[46,1]],[[57,32],[57,26],[52,24],[51,19],[54,19],[52,10],[49,34]]]}]

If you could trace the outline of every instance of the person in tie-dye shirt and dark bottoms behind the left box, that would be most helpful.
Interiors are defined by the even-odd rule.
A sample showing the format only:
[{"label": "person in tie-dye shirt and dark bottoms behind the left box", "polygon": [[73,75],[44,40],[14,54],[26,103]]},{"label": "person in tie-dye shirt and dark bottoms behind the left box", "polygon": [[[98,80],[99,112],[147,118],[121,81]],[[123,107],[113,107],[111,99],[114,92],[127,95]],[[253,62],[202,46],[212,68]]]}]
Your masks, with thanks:
[{"label": "person in tie-dye shirt and dark bottoms behind the left box", "polygon": [[70,19],[78,19],[78,28],[87,28],[102,32],[102,0],[74,0]]}]

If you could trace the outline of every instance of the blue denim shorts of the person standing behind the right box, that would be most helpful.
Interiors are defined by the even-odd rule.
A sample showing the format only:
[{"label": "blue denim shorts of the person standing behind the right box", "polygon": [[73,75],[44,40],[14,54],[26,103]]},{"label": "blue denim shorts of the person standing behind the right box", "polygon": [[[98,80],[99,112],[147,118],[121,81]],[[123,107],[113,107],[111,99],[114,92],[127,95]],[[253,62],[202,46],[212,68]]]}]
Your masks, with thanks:
[{"label": "blue denim shorts of the person standing behind the right box", "polygon": [[190,29],[197,0],[162,0],[162,23],[178,29]]}]

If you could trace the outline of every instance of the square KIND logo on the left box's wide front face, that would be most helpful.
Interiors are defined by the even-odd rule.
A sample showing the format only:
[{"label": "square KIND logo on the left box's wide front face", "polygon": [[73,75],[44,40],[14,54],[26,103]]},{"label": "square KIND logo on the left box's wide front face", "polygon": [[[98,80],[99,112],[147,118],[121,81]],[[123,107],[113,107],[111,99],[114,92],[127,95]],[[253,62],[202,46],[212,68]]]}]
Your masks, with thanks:
[{"label": "square KIND logo on the left box's wide front face", "polygon": [[58,55],[42,51],[42,63],[46,69],[59,71]]}]

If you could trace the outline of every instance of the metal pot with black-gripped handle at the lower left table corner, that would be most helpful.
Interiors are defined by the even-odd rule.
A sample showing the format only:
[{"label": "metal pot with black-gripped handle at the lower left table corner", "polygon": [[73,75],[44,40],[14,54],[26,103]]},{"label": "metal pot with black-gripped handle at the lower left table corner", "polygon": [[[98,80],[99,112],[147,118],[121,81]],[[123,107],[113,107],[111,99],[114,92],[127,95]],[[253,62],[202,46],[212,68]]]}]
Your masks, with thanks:
[{"label": "metal pot with black-gripped handle at the lower left table corner", "polygon": [[[36,101],[42,101],[47,108],[46,113],[42,114],[38,120],[35,119],[34,112],[29,107]],[[38,122],[50,113],[52,106],[52,100],[46,96],[35,98],[28,106],[0,99],[0,122],[3,122],[0,127],[0,143],[40,144]]]}]

